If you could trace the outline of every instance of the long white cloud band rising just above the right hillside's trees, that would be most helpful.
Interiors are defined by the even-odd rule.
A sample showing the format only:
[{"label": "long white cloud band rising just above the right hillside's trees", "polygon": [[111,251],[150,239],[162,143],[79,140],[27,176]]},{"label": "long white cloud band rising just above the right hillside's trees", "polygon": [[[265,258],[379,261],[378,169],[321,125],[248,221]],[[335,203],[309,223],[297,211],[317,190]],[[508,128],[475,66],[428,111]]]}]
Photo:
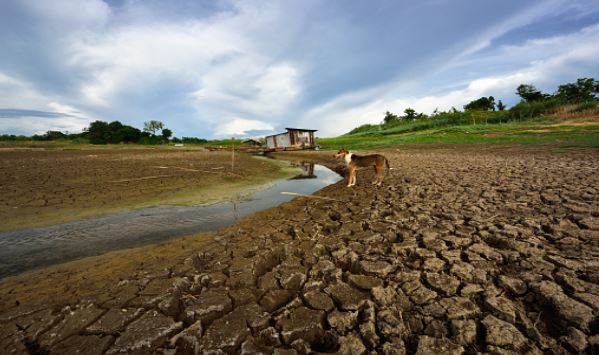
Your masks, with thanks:
[{"label": "long white cloud band rising just above the right hillside's trees", "polygon": [[[599,25],[570,35],[529,40],[520,46],[504,47],[496,56],[485,59],[497,62],[502,58],[520,58],[520,67],[513,72],[480,77],[467,82],[462,88],[437,95],[402,95],[404,83],[398,82],[395,90],[384,86],[329,101],[308,111],[303,120],[306,124],[319,122],[321,136],[334,136],[347,133],[362,124],[378,124],[387,110],[401,114],[411,107],[430,114],[435,109],[462,109],[468,102],[489,95],[504,102],[506,99],[515,101],[516,87],[522,83],[556,89],[557,85],[574,81],[577,77],[599,74],[596,63],[599,46],[595,43],[599,43]],[[484,64],[484,60],[479,63]],[[564,81],[565,75],[569,77]],[[376,97],[376,93],[381,95]],[[351,104],[352,99],[361,96],[371,99],[365,103]]]}]

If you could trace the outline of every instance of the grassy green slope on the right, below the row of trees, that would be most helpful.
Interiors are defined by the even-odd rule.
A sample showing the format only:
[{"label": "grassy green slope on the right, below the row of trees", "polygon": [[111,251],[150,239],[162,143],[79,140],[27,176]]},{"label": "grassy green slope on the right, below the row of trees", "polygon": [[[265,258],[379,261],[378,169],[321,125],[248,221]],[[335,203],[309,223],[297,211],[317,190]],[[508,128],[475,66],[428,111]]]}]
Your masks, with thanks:
[{"label": "grassy green slope on the right, below the row of trees", "polygon": [[[364,125],[335,138],[320,138],[322,149],[371,149],[394,144],[526,144],[599,148],[599,106],[584,103],[549,112],[444,112],[417,120]],[[540,112],[543,112],[540,114]]]}]

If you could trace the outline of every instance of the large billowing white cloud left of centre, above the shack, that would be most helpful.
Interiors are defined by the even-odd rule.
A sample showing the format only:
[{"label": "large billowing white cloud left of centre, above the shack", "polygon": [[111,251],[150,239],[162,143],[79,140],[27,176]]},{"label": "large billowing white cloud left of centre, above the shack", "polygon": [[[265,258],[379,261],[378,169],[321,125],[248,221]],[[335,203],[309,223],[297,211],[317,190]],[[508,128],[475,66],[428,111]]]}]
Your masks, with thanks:
[{"label": "large billowing white cloud left of centre, above the shack", "polygon": [[301,95],[300,73],[260,52],[245,30],[257,26],[251,23],[254,16],[253,11],[225,13],[218,21],[115,27],[73,41],[69,64],[88,73],[80,92],[92,106],[109,108],[123,95],[143,96],[163,82],[176,82],[195,91],[165,100],[194,107],[192,119],[208,126],[223,115],[272,119]]}]

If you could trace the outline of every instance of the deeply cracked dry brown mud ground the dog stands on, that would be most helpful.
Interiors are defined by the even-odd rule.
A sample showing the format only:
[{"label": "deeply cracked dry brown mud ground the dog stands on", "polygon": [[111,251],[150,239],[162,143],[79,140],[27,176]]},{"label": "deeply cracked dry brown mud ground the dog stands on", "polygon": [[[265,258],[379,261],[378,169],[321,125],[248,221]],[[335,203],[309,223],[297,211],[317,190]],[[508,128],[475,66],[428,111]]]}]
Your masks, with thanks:
[{"label": "deeply cracked dry brown mud ground the dog stands on", "polygon": [[597,151],[383,153],[380,188],[360,171],[317,193],[343,202],[298,198],[80,299],[3,303],[0,353],[599,352]]}]

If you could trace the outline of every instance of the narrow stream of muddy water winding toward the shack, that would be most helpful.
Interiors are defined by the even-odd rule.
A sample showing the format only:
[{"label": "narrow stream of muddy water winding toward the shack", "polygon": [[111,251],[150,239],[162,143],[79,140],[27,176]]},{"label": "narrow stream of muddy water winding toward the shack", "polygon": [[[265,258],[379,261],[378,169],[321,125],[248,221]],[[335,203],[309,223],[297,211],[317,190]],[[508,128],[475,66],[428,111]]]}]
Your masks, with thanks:
[{"label": "narrow stream of muddy water winding toward the shack", "polygon": [[281,192],[311,194],[341,177],[312,163],[243,200],[212,205],[154,207],[43,228],[0,233],[0,279],[111,250],[142,246],[229,226],[239,219],[293,199]]}]

